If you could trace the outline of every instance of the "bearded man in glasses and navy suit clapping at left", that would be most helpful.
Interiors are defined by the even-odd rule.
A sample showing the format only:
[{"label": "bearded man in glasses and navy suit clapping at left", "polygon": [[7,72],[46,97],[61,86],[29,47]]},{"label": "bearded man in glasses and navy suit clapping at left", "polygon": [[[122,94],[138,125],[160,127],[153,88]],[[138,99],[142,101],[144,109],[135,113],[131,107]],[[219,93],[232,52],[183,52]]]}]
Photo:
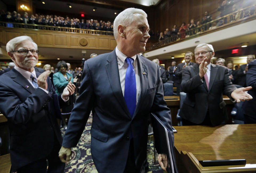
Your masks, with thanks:
[{"label": "bearded man in glasses and navy suit clapping at left", "polygon": [[[35,72],[37,44],[29,36],[19,36],[6,44],[15,67],[0,76],[0,111],[10,131],[11,166],[20,172],[64,172],[59,158],[62,137],[57,123],[53,85],[44,73]],[[74,93],[68,84],[58,98],[61,105]],[[47,160],[46,160],[47,159]]]}]

